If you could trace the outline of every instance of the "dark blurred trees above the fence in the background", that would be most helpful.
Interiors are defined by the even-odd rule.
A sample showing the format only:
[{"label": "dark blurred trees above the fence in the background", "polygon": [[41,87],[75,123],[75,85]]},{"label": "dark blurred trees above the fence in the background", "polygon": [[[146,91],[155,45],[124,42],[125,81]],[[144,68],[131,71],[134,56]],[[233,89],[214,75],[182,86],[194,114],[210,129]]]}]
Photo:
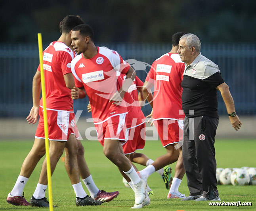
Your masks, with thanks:
[{"label": "dark blurred trees above the fence in the background", "polygon": [[255,42],[256,1],[252,0],[15,0],[1,1],[1,41],[56,40],[65,15],[80,15],[97,42],[170,42],[177,31],[205,42]]}]

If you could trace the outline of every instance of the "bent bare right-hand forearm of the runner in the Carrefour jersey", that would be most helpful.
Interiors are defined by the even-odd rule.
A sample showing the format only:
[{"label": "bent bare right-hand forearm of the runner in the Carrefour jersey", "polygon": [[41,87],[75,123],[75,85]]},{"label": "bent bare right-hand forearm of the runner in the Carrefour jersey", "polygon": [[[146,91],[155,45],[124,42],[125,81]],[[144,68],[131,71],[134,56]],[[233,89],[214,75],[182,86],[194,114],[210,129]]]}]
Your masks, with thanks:
[{"label": "bent bare right-hand forearm of the runner in the Carrefour jersey", "polygon": [[111,97],[109,102],[112,102],[112,103],[121,102],[122,99],[124,98],[125,92],[132,85],[132,82],[135,79],[135,77],[136,77],[136,72],[134,68],[130,67],[129,70],[126,72],[126,79],[124,80],[122,87]]}]

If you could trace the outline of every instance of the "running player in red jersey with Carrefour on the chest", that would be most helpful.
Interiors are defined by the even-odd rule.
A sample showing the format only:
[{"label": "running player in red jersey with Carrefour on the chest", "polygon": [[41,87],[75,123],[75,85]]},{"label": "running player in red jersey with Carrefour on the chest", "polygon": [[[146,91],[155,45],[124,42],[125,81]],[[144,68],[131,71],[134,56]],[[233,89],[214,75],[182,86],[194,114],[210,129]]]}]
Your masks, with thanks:
[{"label": "running player in red jersey with Carrefour on the chest", "polygon": [[[78,99],[84,97],[86,92],[103,153],[130,177],[135,190],[134,206],[147,205],[150,200],[145,190],[146,183],[139,178],[122,150],[122,143],[126,141],[123,127],[127,114],[122,99],[136,73],[117,51],[94,45],[94,32],[90,26],[83,24],[75,27],[71,38],[71,45],[76,53],[80,53],[71,62],[76,84],[71,95],[73,99]],[[119,90],[117,71],[126,74],[126,80]]]}]

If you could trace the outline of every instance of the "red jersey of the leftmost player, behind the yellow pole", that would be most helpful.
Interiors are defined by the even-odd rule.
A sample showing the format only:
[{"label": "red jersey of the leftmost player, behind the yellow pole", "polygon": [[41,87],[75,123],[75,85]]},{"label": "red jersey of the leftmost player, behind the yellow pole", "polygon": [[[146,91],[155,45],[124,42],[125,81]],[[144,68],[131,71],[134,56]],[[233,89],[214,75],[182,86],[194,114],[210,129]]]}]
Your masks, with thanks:
[{"label": "red jersey of the leftmost player, behind the yellow pole", "polygon": [[[73,51],[63,42],[52,42],[43,52],[46,107],[53,110],[73,111],[71,90],[63,75],[71,73]],[[40,71],[40,65],[37,68]],[[42,98],[40,106],[42,106]]]}]

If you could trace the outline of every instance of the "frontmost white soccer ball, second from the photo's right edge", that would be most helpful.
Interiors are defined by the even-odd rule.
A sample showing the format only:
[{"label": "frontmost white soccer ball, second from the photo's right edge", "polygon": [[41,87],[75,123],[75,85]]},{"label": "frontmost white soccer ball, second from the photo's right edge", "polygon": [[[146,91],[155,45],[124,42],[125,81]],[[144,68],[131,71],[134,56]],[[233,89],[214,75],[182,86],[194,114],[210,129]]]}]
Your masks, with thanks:
[{"label": "frontmost white soccer ball, second from the photo's right edge", "polygon": [[247,185],[250,182],[250,176],[245,169],[236,169],[231,173],[231,184]]}]

